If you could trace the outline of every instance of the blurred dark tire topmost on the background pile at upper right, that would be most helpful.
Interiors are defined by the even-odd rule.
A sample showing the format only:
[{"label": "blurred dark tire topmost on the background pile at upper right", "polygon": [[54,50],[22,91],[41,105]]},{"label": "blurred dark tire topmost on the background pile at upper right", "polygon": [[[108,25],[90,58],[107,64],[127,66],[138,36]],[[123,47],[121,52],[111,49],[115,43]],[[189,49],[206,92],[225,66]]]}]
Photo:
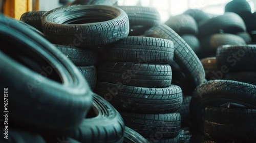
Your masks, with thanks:
[{"label": "blurred dark tire topmost on the background pile at upper right", "polygon": [[234,0],[225,5],[225,12],[234,12],[242,17],[245,14],[251,14],[251,7],[246,0]]}]

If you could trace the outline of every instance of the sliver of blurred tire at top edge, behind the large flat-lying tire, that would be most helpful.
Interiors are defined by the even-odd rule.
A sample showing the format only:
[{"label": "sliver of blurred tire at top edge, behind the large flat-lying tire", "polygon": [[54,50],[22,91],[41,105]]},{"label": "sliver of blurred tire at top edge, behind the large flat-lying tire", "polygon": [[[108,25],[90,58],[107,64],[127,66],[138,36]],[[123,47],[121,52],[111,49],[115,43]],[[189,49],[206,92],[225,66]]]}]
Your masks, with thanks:
[{"label": "sliver of blurred tire at top edge, behind the large flat-lying tire", "polygon": [[72,5],[108,5],[108,6],[116,6],[117,0],[76,0],[72,3]]}]

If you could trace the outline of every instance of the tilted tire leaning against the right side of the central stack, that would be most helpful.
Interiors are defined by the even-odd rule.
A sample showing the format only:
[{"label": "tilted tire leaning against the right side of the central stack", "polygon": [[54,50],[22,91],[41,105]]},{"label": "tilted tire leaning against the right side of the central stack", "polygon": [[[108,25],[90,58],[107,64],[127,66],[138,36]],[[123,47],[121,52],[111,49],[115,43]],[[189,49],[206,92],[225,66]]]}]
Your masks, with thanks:
[{"label": "tilted tire leaning against the right side of the central stack", "polygon": [[187,92],[193,92],[196,86],[205,81],[202,63],[191,47],[175,31],[166,25],[159,25],[148,30],[145,35],[164,38],[174,42],[174,47],[176,48],[174,51],[174,61],[185,74],[187,83],[190,84]]}]

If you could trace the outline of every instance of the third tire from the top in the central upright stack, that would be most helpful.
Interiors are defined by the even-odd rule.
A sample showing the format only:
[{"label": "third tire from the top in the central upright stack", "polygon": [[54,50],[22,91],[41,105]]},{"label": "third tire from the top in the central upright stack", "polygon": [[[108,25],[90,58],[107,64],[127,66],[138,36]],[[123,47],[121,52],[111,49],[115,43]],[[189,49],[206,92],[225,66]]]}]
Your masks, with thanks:
[{"label": "third tire from the top in the central upright stack", "polygon": [[170,113],[177,112],[182,104],[182,91],[176,85],[148,88],[98,82],[94,92],[118,111]]}]

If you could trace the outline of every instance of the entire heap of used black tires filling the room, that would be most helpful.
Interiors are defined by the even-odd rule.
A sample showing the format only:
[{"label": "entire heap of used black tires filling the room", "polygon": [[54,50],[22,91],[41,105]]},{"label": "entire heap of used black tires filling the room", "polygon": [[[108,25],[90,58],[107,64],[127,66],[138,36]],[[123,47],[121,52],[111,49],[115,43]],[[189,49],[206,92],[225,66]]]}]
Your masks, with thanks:
[{"label": "entire heap of used black tires filling the room", "polygon": [[[10,99],[13,127],[26,129],[19,140],[180,142],[181,126],[188,125],[206,137],[200,142],[254,142],[256,27],[250,18],[246,21],[254,15],[248,12],[248,3],[234,0],[223,15],[189,9],[160,23],[153,8],[116,2],[77,0],[51,11],[27,12],[20,21],[1,16],[10,30],[6,34],[0,29],[1,37],[12,35],[32,49],[19,50],[13,40],[3,38],[13,46],[1,51],[40,73],[41,79],[47,77],[38,84],[38,74],[25,74],[24,66],[15,67],[17,63],[1,72],[20,71],[1,75],[3,81],[10,81],[6,85],[15,87],[10,98],[19,93]],[[232,11],[232,5],[244,5],[247,12]],[[11,33],[16,27],[21,32]],[[20,35],[29,36],[20,39]],[[22,56],[12,54],[13,50]],[[54,70],[48,74],[49,69]],[[20,80],[19,87],[14,79],[22,75],[29,81]],[[198,142],[195,138],[191,142]]]}]

